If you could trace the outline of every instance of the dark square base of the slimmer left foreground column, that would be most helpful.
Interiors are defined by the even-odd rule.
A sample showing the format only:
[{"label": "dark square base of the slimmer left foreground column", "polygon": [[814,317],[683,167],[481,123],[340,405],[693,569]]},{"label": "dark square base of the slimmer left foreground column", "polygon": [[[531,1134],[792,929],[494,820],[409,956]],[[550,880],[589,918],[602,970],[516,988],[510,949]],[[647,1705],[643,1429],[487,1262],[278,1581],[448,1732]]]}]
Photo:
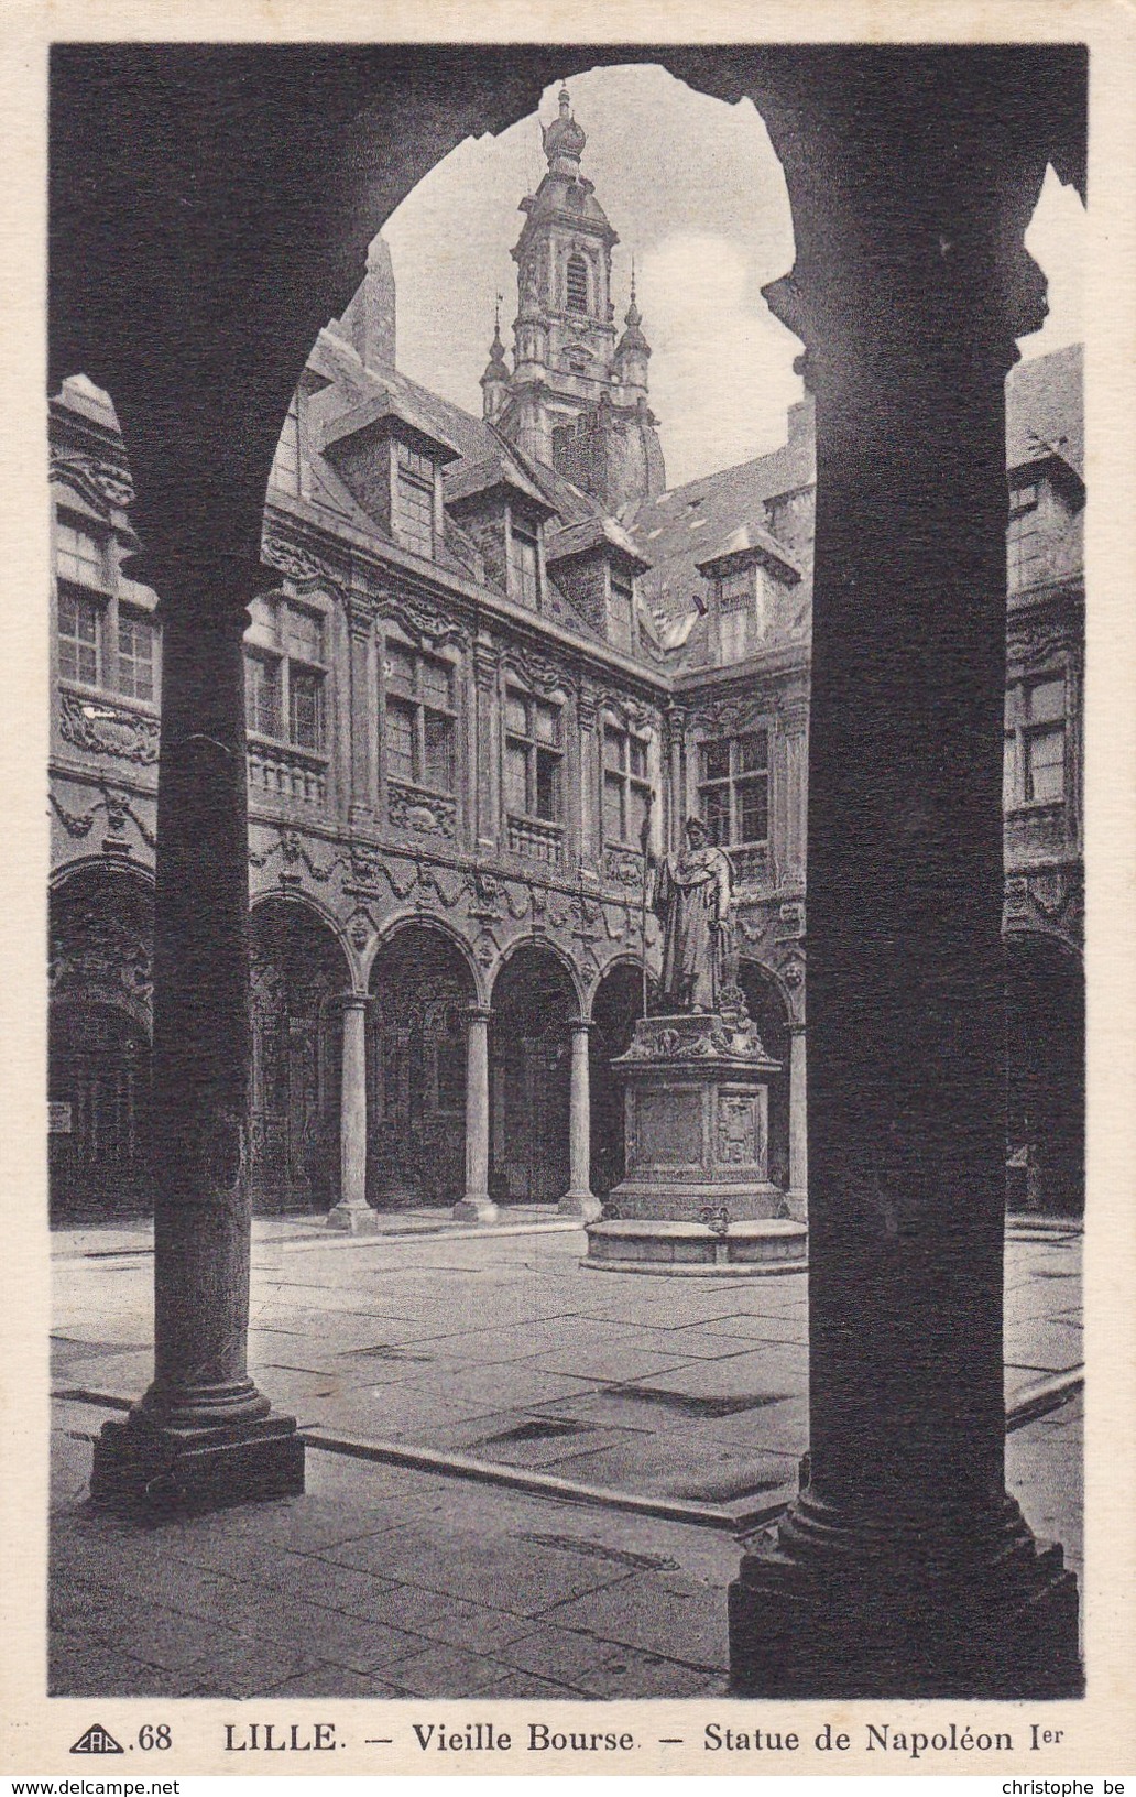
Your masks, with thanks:
[{"label": "dark square base of the slimmer left foreground column", "polygon": [[124,1423],[104,1423],[95,1439],[90,1495],[108,1509],[221,1509],[302,1490],[304,1436],[295,1416],[160,1429],[131,1412]]}]

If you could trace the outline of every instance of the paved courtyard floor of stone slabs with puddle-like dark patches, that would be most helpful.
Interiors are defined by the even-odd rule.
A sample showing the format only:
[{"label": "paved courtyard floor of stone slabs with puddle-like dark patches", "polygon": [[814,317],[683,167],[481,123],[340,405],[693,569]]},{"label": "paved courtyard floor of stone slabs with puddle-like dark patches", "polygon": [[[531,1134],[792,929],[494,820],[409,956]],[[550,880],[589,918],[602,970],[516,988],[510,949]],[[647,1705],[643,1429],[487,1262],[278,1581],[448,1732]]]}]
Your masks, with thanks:
[{"label": "paved courtyard floor of stone slabs with puddle-like dark patches", "polygon": [[[140,1527],[90,1511],[86,1479],[90,1438],[149,1380],[146,1238],[56,1247],[56,1693],[724,1689],[737,1533],[807,1447],[802,1274],[593,1272],[573,1229],[259,1226],[252,1366],[307,1432],[307,1492]],[[1010,1405],[1080,1364],[1078,1251],[1008,1238]],[[548,1490],[340,1452],[368,1445]],[[1080,1400],[1012,1420],[1007,1457],[1078,1571]],[[687,1504],[703,1526],[651,1513]]]}]

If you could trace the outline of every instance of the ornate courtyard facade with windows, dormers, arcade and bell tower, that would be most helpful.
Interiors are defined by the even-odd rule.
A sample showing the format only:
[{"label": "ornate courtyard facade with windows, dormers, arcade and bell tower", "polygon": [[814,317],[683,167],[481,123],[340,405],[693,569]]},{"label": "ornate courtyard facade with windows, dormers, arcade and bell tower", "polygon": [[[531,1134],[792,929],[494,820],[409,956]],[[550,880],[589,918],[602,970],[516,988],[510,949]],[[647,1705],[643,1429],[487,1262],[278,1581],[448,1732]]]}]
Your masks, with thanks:
[{"label": "ornate courtyard facade with windows, dormers, arcade and bell tower", "polygon": [[[663,855],[699,814],[733,863],[735,987],[751,1006],[760,994],[762,1033],[782,1039],[762,1154],[803,1206],[811,412],[794,408],[775,455],[658,492],[642,318],[633,300],[617,345],[611,226],[590,183],[586,228],[561,217],[581,185],[582,144],[568,113],[559,124],[545,146],[555,192],[528,208],[518,244],[514,367],[498,336],[485,417],[397,374],[379,246],[367,277],[376,302],[365,282],[345,320],[320,332],[280,438],[262,543],[279,582],[255,602],[246,638],[250,898],[253,920],[280,907],[304,918],[320,981],[300,992],[273,961],[279,931],[253,924],[253,1172],[266,1204],[327,1208],[340,1195],[345,996],[367,1014],[367,1053],[351,1076],[367,1082],[352,1116],[365,1118],[372,1202],[466,1191],[476,1211],[491,1191],[559,1199],[566,1134],[528,1161],[510,1143],[525,1139],[525,1118],[539,1114],[545,1129],[588,1105],[588,1066],[602,1073],[627,1048],[658,976],[643,850]],[[582,289],[579,270],[568,273],[573,255],[586,261]],[[543,397],[528,379],[537,363]],[[1007,933],[1069,952],[1084,909],[1078,379],[1077,352],[1019,370],[1008,449]],[[608,403],[627,413],[622,424],[635,413],[645,446],[618,519],[604,482],[581,473],[582,447],[557,437],[572,419],[591,429]],[[1053,406],[1069,413],[1064,435]],[[108,870],[142,890],[153,868],[162,638],[156,595],[131,577],[140,544],[111,403],[83,377],[65,383],[50,435],[50,807],[63,902]],[[579,485],[566,478],[573,455]],[[696,514],[706,525],[697,562]],[[1037,528],[1023,532],[1023,518]],[[106,907],[122,888],[95,888],[90,952],[72,933],[54,951],[54,979],[68,990],[86,979],[90,1003],[124,1005],[144,1026],[146,979],[108,990]],[[444,1003],[430,1015],[410,994],[415,956],[446,963]],[[539,997],[518,1022],[541,1069],[525,1091],[516,1042],[493,1021],[519,965]],[[122,967],[137,972],[133,951]],[[516,1014],[516,996],[503,1014]],[[602,1026],[570,1078],[572,1019]],[[466,1107],[482,1039],[487,1170],[471,1197]],[[280,1121],[280,1093],[286,1109],[295,1094],[300,1123]],[[591,1120],[602,1195],[622,1157],[606,1094],[591,1100]],[[577,1129],[577,1161],[581,1139]]]}]

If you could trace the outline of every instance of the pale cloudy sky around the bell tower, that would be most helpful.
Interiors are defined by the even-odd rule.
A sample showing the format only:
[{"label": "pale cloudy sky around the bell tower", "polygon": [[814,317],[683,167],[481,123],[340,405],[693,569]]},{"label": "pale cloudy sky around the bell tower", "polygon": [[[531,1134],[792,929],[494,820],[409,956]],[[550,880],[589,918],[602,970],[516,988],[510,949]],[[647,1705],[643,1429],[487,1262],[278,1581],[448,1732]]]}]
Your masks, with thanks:
[{"label": "pale cloudy sky around the bell tower", "polygon": [[[555,117],[557,90],[541,95],[545,124]],[[581,173],[595,181],[620,237],[620,329],[635,257],[667,483],[777,449],[785,410],[802,397],[793,374],[800,343],[760,289],[793,266],[793,219],[753,102],[696,93],[652,65],[573,75],[570,93],[588,135]],[[500,137],[458,144],[383,228],[397,286],[399,368],[478,417],[498,293],[512,350],[518,207],[546,169],[537,113]],[[1023,356],[1035,356],[1082,336],[1086,216],[1053,171],[1026,248],[1050,282],[1044,329],[1019,343]]]}]

